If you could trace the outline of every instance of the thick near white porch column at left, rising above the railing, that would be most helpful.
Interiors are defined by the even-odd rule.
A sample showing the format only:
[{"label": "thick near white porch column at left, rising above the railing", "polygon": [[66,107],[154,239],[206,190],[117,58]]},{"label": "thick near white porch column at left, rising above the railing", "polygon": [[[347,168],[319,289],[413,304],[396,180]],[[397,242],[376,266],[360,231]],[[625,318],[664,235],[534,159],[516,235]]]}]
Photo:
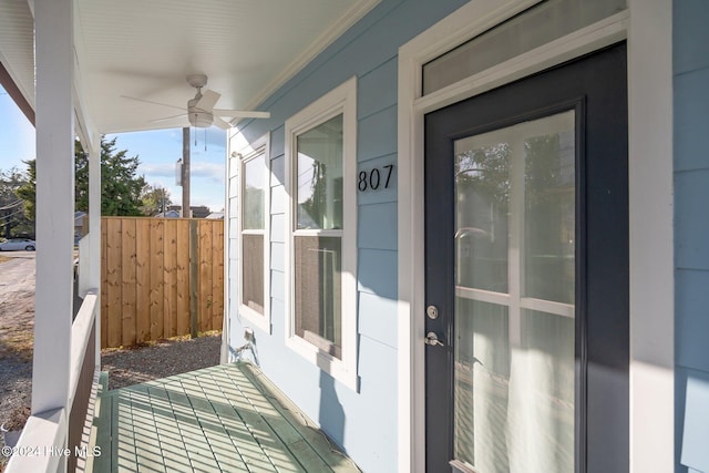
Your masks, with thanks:
[{"label": "thick near white porch column at left, rising above the railing", "polygon": [[65,408],[74,235],[73,0],[35,0],[37,291],[32,413]]}]

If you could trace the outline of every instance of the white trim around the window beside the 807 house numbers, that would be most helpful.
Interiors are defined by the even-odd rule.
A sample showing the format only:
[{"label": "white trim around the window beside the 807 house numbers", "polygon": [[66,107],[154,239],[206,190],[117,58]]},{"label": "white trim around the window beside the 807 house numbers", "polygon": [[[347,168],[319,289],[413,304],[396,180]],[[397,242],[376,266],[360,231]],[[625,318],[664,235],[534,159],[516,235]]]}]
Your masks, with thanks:
[{"label": "white trim around the window beside the 807 house numbers", "polygon": [[[294,171],[297,165],[296,138],[333,116],[342,114],[342,359],[318,349],[295,333],[294,234],[296,222],[296,187]],[[286,132],[286,346],[308,361],[328,372],[352,390],[358,390],[357,377],[357,78],[352,78],[311,103],[288,120]]]}]

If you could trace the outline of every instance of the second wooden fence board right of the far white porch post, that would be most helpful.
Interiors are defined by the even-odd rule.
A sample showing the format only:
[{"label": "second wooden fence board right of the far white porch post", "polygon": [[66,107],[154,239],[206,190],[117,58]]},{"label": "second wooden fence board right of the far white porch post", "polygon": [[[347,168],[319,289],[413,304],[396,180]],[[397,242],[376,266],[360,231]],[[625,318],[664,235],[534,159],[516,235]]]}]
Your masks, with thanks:
[{"label": "second wooden fence board right of the far white porch post", "polygon": [[122,245],[122,280],[121,297],[123,299],[122,345],[130,347],[135,345],[135,316],[136,316],[136,279],[135,279],[135,218],[125,218],[121,224]]}]

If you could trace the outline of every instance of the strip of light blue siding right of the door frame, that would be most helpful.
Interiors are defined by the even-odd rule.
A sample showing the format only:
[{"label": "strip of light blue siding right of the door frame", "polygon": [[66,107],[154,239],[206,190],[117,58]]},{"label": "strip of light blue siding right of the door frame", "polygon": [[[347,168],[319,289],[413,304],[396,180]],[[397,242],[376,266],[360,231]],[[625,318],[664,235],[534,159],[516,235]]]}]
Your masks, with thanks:
[{"label": "strip of light blue siding right of the door frame", "polygon": [[709,471],[709,2],[676,0],[676,471]]}]

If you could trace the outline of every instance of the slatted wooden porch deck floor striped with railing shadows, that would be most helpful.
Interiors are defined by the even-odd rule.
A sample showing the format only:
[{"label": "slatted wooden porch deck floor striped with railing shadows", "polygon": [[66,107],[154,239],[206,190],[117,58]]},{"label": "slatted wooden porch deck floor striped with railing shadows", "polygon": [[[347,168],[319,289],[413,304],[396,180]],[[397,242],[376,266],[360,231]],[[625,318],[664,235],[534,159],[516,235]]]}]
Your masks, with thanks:
[{"label": "slatted wooden porch deck floor striped with railing shadows", "polygon": [[359,472],[249,363],[102,389],[88,471]]}]

